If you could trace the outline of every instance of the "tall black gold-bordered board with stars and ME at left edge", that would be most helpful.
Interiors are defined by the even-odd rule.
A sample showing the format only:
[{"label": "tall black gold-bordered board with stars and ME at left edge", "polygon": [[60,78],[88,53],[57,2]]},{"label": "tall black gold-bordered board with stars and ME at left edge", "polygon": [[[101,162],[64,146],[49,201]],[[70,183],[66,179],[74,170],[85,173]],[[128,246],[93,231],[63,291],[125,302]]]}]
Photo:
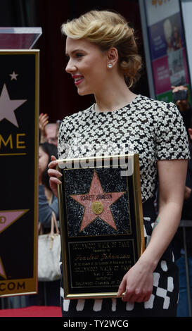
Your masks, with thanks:
[{"label": "tall black gold-bordered board with stars and ME at left edge", "polygon": [[0,296],[37,293],[39,51],[0,51]]}]

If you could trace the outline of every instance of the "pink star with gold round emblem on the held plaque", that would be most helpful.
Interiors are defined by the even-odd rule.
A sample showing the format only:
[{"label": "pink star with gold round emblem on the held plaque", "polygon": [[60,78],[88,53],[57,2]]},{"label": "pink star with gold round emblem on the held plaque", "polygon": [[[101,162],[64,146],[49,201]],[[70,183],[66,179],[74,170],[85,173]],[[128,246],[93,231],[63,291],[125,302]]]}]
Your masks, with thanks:
[{"label": "pink star with gold round emblem on the held plaque", "polygon": [[117,230],[113,214],[110,211],[110,206],[124,193],[125,192],[103,192],[101,182],[98,179],[96,170],[94,170],[89,194],[70,195],[72,199],[75,199],[75,201],[85,207],[80,231],[84,230],[84,228],[92,223],[97,217],[101,218],[101,220]]}]

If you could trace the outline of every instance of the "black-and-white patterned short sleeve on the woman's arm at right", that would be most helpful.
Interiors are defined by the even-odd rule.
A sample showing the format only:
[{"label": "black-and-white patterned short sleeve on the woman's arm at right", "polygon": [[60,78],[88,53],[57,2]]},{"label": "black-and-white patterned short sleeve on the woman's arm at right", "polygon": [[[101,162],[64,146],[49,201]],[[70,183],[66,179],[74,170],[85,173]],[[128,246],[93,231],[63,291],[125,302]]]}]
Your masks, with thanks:
[{"label": "black-and-white patterned short sleeve on the woman's arm at right", "polygon": [[155,127],[157,160],[190,158],[186,128],[177,106],[162,102],[158,107],[157,117]]}]

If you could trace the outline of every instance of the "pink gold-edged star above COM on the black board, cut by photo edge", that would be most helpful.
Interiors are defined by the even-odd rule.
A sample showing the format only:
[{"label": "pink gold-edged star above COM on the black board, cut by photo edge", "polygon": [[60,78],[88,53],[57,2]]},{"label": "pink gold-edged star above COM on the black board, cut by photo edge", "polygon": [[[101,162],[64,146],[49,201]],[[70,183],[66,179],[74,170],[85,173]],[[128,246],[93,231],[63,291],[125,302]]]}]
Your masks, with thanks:
[{"label": "pink gold-edged star above COM on the black board, cut by photo edge", "polygon": [[[6,230],[7,227],[15,223],[18,218],[23,216],[25,213],[27,213],[29,209],[23,210],[23,211],[0,211],[0,234],[4,230]],[[4,269],[4,265],[1,261],[0,257],[0,276],[6,278],[6,273]]]}]

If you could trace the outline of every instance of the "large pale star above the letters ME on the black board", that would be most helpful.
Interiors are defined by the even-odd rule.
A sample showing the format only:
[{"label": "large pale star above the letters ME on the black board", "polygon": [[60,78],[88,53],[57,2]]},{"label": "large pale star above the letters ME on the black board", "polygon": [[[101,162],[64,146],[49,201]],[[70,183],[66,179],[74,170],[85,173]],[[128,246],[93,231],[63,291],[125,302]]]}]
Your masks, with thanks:
[{"label": "large pale star above the letters ME on the black board", "polygon": [[0,121],[6,118],[6,120],[18,127],[18,121],[15,117],[14,111],[24,104],[25,101],[27,100],[11,100],[6,85],[4,84],[0,96]]}]

